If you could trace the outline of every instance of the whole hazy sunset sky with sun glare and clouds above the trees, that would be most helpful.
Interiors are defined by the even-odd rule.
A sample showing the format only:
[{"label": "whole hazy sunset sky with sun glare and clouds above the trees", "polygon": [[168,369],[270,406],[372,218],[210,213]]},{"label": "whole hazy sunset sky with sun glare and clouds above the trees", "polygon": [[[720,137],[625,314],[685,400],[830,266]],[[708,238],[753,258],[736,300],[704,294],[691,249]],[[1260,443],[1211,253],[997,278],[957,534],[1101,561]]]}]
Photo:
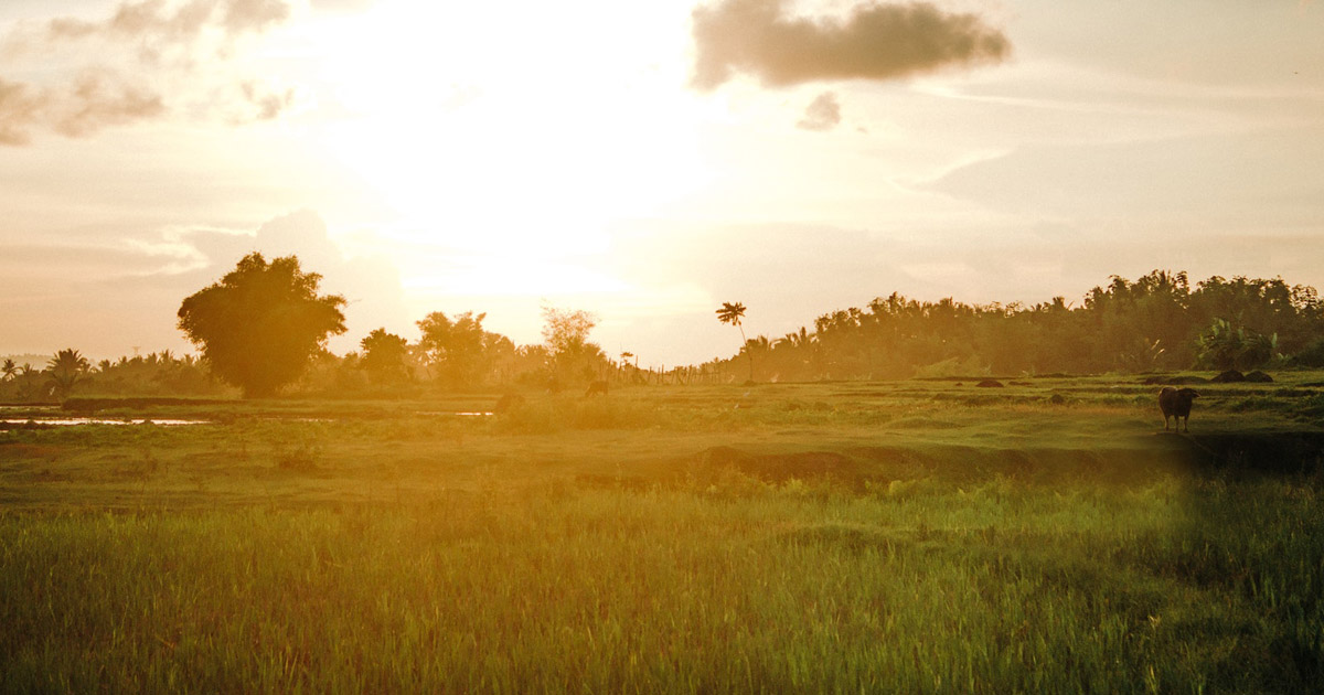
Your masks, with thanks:
[{"label": "whole hazy sunset sky with sun glare and clouds above the trees", "polygon": [[641,365],[899,291],[1324,287],[1303,0],[4,0],[0,353],[189,351],[297,254],[357,347],[588,310]]}]

